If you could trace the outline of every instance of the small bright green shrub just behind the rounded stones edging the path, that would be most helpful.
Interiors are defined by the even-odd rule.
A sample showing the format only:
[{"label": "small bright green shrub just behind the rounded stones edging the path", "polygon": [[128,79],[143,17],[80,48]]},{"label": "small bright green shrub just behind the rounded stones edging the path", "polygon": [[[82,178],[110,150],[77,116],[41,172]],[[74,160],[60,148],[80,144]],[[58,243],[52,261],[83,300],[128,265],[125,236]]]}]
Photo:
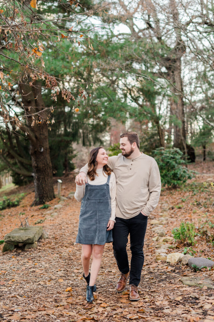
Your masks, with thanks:
[{"label": "small bright green shrub just behind the rounded stones edging the path", "polygon": [[187,245],[195,244],[195,225],[193,223],[181,222],[180,227],[172,229],[172,234],[175,241],[180,240]]}]

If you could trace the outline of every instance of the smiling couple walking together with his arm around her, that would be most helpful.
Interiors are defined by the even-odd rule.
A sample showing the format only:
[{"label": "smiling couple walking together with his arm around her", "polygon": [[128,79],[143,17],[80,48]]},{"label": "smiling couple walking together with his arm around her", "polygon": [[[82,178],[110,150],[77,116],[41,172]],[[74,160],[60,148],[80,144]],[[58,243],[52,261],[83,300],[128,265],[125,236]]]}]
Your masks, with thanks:
[{"label": "smiling couple walking together with his arm around her", "polygon": [[[76,243],[82,244],[86,299],[92,302],[95,281],[106,242],[113,242],[121,273],[116,290],[122,292],[129,280],[129,299],[137,301],[144,264],[144,236],[148,215],[158,204],[161,179],[156,161],[140,152],[137,133],[120,136],[118,156],[107,156],[102,147],[93,149],[86,166],[76,176],[75,198],[81,201]],[[126,245],[130,234],[130,269]],[[92,254],[91,273],[89,273]]]}]

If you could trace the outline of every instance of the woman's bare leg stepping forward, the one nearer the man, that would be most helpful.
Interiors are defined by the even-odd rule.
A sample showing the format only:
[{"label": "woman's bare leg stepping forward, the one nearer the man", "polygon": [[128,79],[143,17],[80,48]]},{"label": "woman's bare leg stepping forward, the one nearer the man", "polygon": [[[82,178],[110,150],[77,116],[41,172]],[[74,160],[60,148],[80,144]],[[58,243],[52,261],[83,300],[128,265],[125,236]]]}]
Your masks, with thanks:
[{"label": "woman's bare leg stepping forward, the one nearer the man", "polygon": [[99,268],[101,265],[102,260],[102,254],[104,250],[105,245],[93,245],[92,249],[92,263],[91,263],[91,276],[90,276],[90,283],[89,286],[93,286],[96,282]]}]

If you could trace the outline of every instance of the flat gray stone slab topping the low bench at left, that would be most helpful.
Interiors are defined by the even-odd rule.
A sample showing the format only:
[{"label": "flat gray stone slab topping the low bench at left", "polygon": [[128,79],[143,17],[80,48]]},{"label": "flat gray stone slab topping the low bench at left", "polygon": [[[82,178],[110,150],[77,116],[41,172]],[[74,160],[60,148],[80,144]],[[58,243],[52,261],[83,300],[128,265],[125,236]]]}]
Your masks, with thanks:
[{"label": "flat gray stone slab topping the low bench at left", "polygon": [[42,235],[42,226],[15,228],[5,235],[5,242],[14,244],[33,244]]}]

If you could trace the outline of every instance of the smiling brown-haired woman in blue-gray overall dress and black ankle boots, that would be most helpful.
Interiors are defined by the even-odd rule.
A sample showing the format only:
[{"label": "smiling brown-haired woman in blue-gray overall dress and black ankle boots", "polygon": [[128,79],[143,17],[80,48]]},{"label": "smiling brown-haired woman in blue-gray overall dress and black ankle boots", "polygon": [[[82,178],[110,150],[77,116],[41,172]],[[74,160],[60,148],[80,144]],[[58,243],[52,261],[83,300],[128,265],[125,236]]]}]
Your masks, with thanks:
[{"label": "smiling brown-haired woman in blue-gray overall dress and black ankle boots", "polygon": [[[81,201],[79,229],[76,243],[82,244],[83,277],[87,282],[86,299],[91,303],[96,291],[95,281],[101,265],[106,242],[112,242],[112,228],[116,211],[116,177],[107,166],[104,148],[89,153],[88,182],[76,186],[74,197]],[[92,254],[91,273],[89,273]]]}]

